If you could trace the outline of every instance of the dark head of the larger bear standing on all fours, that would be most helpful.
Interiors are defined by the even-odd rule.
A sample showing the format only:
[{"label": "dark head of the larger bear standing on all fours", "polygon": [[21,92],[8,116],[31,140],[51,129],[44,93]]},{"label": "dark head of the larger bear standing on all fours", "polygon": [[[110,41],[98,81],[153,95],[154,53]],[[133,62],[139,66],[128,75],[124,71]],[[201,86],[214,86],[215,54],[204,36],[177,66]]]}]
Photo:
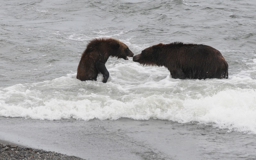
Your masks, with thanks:
[{"label": "dark head of the larger bear standing on all fours", "polygon": [[140,54],[134,56],[132,60],[142,65],[162,66],[162,63],[159,59],[159,49],[162,45],[162,43],[159,43],[158,45],[148,47],[144,49]]}]

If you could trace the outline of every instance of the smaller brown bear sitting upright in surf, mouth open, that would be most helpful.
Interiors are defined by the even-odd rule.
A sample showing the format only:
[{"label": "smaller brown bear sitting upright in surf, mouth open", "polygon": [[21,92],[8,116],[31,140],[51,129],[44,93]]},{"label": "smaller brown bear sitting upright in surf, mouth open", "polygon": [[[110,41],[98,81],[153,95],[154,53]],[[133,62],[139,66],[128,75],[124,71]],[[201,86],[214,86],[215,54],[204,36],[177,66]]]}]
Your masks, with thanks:
[{"label": "smaller brown bear sitting upright in surf, mouth open", "polygon": [[105,63],[109,56],[128,60],[128,57],[133,57],[133,53],[127,45],[117,39],[93,39],[82,54],[77,67],[76,78],[82,81],[97,80],[98,73],[100,72],[103,74],[103,83],[106,83],[109,72]]}]

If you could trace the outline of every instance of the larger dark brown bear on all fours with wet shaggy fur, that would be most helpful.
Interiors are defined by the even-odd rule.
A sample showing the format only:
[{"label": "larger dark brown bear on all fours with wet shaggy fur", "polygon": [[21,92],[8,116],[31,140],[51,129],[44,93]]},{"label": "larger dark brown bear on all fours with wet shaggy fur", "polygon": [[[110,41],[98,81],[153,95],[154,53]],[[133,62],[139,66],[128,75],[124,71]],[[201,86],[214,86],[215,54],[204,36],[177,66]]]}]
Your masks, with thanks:
[{"label": "larger dark brown bear on all fours with wet shaggy fur", "polygon": [[158,44],[133,57],[134,62],[149,66],[165,66],[175,79],[228,79],[228,63],[220,51],[208,45]]}]

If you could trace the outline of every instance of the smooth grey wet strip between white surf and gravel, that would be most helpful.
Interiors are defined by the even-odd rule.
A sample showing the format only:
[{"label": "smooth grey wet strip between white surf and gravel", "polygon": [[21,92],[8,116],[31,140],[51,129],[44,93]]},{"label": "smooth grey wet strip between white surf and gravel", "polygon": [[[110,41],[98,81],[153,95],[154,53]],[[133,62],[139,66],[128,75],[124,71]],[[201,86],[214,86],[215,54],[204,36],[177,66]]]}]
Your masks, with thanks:
[{"label": "smooth grey wet strip between white surf and gravel", "polygon": [[[255,158],[255,134],[165,120],[34,120],[0,117],[0,139],[83,159]],[[229,150],[222,150],[228,148]]]}]

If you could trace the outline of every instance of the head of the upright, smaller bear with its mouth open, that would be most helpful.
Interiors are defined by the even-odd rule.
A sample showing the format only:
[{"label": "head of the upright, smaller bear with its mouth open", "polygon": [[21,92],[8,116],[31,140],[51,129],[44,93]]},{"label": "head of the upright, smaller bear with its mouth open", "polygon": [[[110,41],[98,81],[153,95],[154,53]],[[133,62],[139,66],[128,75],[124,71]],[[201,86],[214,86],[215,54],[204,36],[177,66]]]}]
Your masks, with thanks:
[{"label": "head of the upright, smaller bear with its mouth open", "polygon": [[128,57],[133,57],[132,51],[123,42],[112,38],[109,38],[108,40],[110,41],[110,46],[112,49],[110,56],[117,57],[118,59],[122,58],[125,60],[128,60]]}]

